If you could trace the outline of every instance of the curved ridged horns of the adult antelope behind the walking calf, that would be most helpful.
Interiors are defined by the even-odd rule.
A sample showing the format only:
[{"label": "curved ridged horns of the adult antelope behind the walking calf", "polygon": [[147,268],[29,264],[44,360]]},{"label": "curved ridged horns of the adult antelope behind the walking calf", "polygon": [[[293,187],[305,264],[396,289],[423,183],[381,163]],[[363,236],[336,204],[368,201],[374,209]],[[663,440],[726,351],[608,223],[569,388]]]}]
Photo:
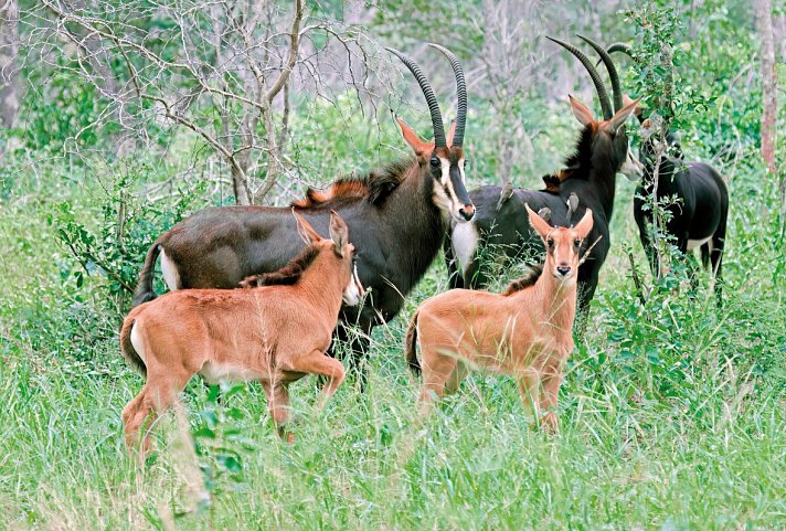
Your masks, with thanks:
[{"label": "curved ridged horns of the adult antelope behind the walking calf", "polygon": [[[456,76],[456,97],[458,98],[458,108],[456,116],[456,134],[453,136],[453,145],[456,147],[461,147],[464,144],[464,126],[467,123],[467,83],[464,79],[464,68],[461,68],[461,63],[458,62],[458,57],[439,44],[428,43],[429,46],[442,52],[448,61],[450,61],[450,66],[453,66],[453,73]],[[428,79],[423,74],[423,71],[417,63],[415,63],[411,57],[401,53],[392,47],[386,47],[389,52],[399,57],[402,63],[410,68],[412,75],[417,79],[417,84],[421,85],[421,91],[426,97],[426,104],[428,104],[428,111],[432,115],[432,126],[434,127],[434,147],[443,148],[447,146],[447,140],[445,139],[445,126],[442,120],[442,113],[439,111],[439,104],[434,95],[432,85]]]}]

